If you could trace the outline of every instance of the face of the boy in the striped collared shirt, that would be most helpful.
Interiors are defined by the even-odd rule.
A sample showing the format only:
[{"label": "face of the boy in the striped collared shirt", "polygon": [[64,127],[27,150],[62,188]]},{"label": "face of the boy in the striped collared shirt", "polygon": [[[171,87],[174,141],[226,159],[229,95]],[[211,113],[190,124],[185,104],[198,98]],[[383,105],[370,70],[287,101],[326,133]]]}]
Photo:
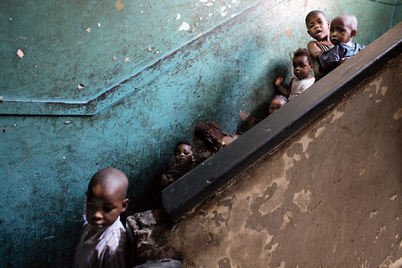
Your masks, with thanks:
[{"label": "face of the boy in the striped collared shirt", "polygon": [[108,191],[96,184],[86,194],[86,220],[95,231],[104,231],[126,211],[128,204],[128,199],[122,200],[119,191]]}]

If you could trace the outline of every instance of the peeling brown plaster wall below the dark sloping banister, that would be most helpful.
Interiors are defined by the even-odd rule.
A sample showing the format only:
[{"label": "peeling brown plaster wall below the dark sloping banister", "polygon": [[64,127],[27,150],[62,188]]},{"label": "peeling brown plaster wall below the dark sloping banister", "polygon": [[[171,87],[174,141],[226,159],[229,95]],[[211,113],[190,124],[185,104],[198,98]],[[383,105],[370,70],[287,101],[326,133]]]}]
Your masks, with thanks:
[{"label": "peeling brown plaster wall below the dark sloping banister", "polygon": [[400,267],[402,57],[181,219],[185,267]]}]

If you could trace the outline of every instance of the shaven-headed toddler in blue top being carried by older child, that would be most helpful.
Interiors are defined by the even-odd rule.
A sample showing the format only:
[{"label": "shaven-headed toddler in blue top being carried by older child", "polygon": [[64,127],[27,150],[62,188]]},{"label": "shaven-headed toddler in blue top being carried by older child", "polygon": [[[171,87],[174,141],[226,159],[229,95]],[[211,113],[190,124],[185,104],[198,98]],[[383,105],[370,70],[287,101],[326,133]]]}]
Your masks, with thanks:
[{"label": "shaven-headed toddler in blue top being carried by older child", "polygon": [[336,17],[331,22],[330,38],[335,47],[323,52],[320,56],[320,73],[326,75],[345,60],[357,54],[365,48],[358,43],[352,43],[356,35],[357,19],[351,14],[344,14]]}]

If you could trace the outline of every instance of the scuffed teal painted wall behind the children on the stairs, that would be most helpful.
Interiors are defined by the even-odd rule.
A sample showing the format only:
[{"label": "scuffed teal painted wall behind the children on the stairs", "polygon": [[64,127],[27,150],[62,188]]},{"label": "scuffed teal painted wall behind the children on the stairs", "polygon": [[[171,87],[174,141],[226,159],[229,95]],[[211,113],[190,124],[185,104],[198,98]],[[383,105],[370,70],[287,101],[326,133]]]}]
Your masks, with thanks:
[{"label": "scuffed teal painted wall behind the children on the stairs", "polygon": [[[304,24],[311,10],[330,20],[355,14],[354,41],[368,45],[389,30],[400,7],[124,1],[118,11],[113,2],[0,3],[0,267],[68,267],[97,170],[123,170],[128,213],[143,211],[156,206],[155,178],[196,122],[246,131],[241,110],[266,117],[274,78],[290,80],[291,52],[311,40]],[[178,31],[184,21],[190,29]]]}]

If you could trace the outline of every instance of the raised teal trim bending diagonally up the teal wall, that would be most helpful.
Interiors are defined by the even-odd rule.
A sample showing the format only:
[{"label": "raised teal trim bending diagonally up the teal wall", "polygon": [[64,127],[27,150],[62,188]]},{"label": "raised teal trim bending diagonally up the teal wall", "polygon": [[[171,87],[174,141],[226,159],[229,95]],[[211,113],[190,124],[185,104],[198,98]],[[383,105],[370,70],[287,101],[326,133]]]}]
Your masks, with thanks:
[{"label": "raised teal trim bending diagonally up the teal wall", "polygon": [[205,34],[189,41],[170,54],[158,59],[141,71],[130,75],[118,84],[107,88],[105,92],[87,102],[57,102],[32,100],[0,100],[0,114],[7,115],[95,115],[112,106],[143,85],[155,80],[159,75],[191,59],[199,51],[208,48],[214,42],[236,31],[239,27],[284,2],[284,0],[263,0],[216,26]]}]

